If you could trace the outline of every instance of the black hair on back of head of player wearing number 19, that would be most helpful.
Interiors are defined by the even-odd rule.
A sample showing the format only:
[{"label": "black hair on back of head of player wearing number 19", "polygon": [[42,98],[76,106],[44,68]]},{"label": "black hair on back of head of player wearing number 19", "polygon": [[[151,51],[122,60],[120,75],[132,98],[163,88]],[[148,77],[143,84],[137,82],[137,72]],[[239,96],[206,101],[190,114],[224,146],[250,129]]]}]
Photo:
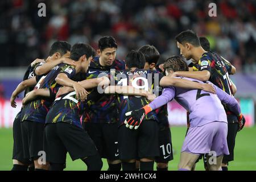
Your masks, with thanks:
[{"label": "black hair on back of head of player wearing number 19", "polygon": [[145,57],[142,52],[131,50],[125,59],[128,68],[143,69],[146,63]]}]

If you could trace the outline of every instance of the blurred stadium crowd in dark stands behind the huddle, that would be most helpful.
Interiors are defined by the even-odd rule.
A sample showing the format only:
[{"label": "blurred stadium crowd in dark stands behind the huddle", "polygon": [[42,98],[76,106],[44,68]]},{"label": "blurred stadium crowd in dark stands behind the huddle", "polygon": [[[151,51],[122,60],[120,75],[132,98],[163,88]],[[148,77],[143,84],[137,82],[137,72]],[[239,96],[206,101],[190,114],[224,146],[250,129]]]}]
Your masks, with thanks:
[{"label": "blurred stadium crowd in dark stands behind the huddle", "polygon": [[[38,4],[46,4],[46,17]],[[217,17],[208,15],[209,3]],[[162,59],[178,55],[174,37],[193,29],[207,36],[211,49],[228,59],[237,72],[256,71],[256,1],[192,0],[60,0],[0,1],[1,67],[20,67],[46,58],[56,39],[84,42],[97,48],[98,39],[112,35],[118,41],[118,59],[130,49],[152,44]]]}]

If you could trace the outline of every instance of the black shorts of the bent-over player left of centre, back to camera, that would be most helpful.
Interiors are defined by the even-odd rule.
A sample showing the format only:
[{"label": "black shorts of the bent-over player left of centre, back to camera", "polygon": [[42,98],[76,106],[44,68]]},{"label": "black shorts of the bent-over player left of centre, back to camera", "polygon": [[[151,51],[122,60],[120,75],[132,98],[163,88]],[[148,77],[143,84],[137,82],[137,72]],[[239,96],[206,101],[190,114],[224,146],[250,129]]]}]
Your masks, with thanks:
[{"label": "black shorts of the bent-over player left of centre, back to camera", "polygon": [[46,151],[47,162],[61,164],[65,163],[67,152],[72,160],[98,155],[96,146],[88,133],[80,127],[65,122],[46,125],[44,151]]}]

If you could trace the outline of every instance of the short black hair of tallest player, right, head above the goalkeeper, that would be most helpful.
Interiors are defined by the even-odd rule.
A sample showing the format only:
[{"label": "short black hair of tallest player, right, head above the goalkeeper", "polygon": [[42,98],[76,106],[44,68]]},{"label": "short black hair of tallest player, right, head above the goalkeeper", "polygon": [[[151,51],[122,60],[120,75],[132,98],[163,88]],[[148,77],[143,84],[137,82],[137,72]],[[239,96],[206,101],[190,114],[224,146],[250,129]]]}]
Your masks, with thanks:
[{"label": "short black hair of tallest player, right, head above the goalkeeper", "polygon": [[199,37],[197,36],[196,32],[192,30],[186,30],[186,31],[180,32],[180,34],[175,36],[175,40],[183,45],[185,43],[190,43],[195,47],[201,46]]}]

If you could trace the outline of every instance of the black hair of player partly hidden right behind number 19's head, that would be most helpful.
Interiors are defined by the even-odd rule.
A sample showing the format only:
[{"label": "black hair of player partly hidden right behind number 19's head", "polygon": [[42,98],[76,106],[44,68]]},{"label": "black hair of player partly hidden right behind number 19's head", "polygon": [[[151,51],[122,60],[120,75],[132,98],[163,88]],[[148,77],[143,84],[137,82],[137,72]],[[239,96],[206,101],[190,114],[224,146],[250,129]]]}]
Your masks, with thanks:
[{"label": "black hair of player partly hidden right behind number 19's head", "polygon": [[158,52],[158,49],[155,48],[155,46],[145,45],[139,48],[138,51],[143,53],[148,64],[158,63],[160,53]]}]

